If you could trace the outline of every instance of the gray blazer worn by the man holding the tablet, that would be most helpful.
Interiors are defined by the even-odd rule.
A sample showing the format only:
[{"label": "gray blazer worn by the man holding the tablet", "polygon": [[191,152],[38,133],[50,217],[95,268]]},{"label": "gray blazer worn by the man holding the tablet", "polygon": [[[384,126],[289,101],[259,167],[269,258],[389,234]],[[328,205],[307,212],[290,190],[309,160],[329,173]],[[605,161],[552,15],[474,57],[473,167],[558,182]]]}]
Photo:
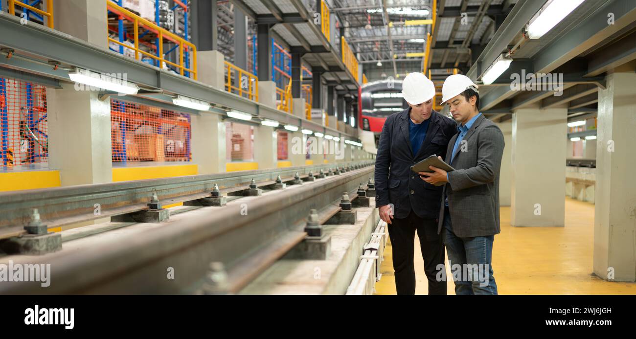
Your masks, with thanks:
[{"label": "gray blazer worn by the man holding the tablet", "polygon": [[[450,160],[459,133],[448,142],[445,159]],[[504,135],[495,123],[483,114],[475,120],[457,146],[448,172],[449,183],[443,188],[439,211],[438,233],[444,225],[444,204],[448,195],[448,210],[457,237],[469,238],[495,235],[499,228],[499,169],[504,153]],[[463,141],[462,141],[463,142]]]}]

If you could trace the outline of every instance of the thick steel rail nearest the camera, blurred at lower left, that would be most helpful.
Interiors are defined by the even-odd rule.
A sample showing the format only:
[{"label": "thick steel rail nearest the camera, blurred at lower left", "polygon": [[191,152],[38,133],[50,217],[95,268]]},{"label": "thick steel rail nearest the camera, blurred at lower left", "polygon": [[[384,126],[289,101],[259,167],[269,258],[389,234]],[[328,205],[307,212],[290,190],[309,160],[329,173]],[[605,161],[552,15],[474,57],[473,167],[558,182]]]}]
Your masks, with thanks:
[{"label": "thick steel rail nearest the camera, blurred at lower left", "polygon": [[[369,176],[373,176],[371,166],[245,199],[246,214],[241,213],[242,204],[201,207],[186,212],[193,213],[188,218],[143,236],[14,258],[21,263],[50,264],[50,286],[4,282],[0,294],[192,294],[204,283],[211,262],[225,266],[223,291],[237,293],[305,238],[310,209],[329,211],[340,202],[343,191],[354,194]],[[174,279],[166,278],[169,267]]]}]

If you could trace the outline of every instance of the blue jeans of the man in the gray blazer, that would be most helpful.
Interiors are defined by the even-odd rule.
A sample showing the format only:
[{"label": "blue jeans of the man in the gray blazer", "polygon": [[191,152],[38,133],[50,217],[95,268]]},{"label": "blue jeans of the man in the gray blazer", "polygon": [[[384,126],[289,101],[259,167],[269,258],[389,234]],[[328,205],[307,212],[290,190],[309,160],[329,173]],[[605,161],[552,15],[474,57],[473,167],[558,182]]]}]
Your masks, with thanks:
[{"label": "blue jeans of the man in the gray blazer", "polygon": [[448,207],[445,208],[444,227],[441,232],[455,280],[455,294],[497,294],[497,284],[492,276],[491,265],[492,242],[495,236],[457,237],[453,233]]}]

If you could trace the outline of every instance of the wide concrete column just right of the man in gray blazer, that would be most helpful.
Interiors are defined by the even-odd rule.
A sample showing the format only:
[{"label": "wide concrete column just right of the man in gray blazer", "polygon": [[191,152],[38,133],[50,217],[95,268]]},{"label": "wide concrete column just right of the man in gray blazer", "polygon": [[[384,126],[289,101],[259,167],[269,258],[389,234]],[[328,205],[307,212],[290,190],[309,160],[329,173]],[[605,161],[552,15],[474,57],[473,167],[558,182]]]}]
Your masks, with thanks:
[{"label": "wide concrete column just right of the man in gray blazer", "polygon": [[566,123],[565,107],[513,114],[512,226],[565,226]]}]

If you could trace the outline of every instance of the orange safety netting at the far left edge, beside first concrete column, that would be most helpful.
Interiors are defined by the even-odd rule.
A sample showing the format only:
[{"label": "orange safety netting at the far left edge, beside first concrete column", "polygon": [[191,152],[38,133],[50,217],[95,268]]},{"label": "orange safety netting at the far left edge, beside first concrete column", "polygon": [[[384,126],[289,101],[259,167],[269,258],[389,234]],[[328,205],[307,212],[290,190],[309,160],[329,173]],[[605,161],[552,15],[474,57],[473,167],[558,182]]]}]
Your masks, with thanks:
[{"label": "orange safety netting at the far left edge, beside first concrete column", "polygon": [[0,78],[0,169],[48,162],[46,87]]}]

